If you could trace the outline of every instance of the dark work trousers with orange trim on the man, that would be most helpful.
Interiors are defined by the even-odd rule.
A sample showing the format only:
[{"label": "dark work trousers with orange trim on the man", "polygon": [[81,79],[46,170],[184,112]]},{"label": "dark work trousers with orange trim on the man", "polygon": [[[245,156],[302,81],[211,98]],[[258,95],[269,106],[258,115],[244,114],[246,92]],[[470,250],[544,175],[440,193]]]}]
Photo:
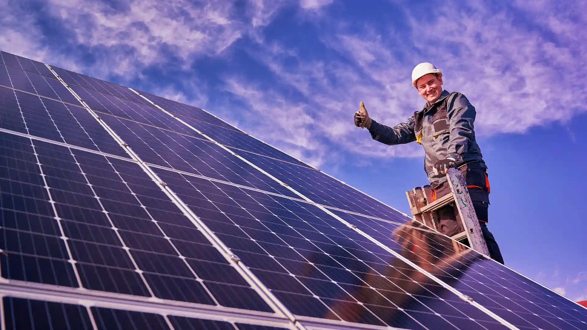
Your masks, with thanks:
[{"label": "dark work trousers with orange trim on the man", "polygon": [[[476,186],[468,188],[468,190],[471,195],[471,199],[473,199],[473,208],[475,209],[477,220],[479,220],[479,225],[481,226],[481,233],[483,233],[485,243],[487,243],[489,256],[493,260],[504,264],[504,258],[501,256],[500,247],[497,245],[497,241],[495,241],[493,234],[491,234],[487,228],[489,208],[488,190],[486,184],[477,178],[480,177],[480,175],[483,175],[485,178],[485,171],[482,169],[470,169],[467,171],[465,169],[463,174],[466,174],[465,179],[467,180],[467,184],[469,186]],[[448,186],[448,183],[444,183],[436,188],[437,199],[448,193],[450,193],[450,186]],[[484,196],[485,194],[487,196]],[[445,206],[437,211],[439,220],[438,231],[449,237],[464,231],[461,221],[457,221],[455,211],[456,210],[453,205]]]}]

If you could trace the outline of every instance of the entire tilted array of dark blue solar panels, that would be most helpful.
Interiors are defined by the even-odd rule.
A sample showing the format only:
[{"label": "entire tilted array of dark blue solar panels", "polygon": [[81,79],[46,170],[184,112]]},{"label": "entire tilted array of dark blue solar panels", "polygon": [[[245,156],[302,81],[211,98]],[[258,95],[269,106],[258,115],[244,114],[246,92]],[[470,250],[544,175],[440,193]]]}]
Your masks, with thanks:
[{"label": "entire tilted array of dark blue solar panels", "polygon": [[587,329],[202,109],[0,55],[2,329]]}]

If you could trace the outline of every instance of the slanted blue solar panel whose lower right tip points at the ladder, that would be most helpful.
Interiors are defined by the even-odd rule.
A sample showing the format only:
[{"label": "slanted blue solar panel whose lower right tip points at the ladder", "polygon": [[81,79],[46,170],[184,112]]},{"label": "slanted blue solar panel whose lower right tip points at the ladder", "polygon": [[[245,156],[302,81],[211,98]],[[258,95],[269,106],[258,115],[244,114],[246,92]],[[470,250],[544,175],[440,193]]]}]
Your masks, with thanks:
[{"label": "slanted blue solar panel whose lower right tip points at the ladder", "polygon": [[327,176],[321,171],[307,169],[257,154],[239,153],[239,155],[318,204],[399,223],[405,223],[410,220],[410,218],[393,210],[393,208]]}]

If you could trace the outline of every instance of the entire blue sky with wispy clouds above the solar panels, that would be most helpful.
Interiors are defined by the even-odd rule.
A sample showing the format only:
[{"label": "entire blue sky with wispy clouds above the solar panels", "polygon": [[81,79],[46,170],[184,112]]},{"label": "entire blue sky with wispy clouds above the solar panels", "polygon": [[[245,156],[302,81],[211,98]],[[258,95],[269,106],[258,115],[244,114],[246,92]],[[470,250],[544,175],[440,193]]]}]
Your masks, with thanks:
[{"label": "entire blue sky with wispy clouds above the solar panels", "polygon": [[432,62],[477,108],[490,230],[514,270],[587,299],[587,4],[551,1],[0,0],[0,49],[203,107],[409,212],[418,144],[393,126],[423,106]]}]

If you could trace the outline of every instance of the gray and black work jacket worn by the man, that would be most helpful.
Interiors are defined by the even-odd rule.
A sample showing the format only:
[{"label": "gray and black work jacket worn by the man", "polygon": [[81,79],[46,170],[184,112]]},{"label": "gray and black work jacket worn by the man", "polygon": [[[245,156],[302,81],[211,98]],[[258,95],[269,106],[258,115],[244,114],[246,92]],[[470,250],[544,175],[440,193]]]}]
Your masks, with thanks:
[{"label": "gray and black work jacket worn by the man", "polygon": [[475,115],[475,107],[467,97],[443,90],[440,99],[432,105],[426,102],[424,108],[414,112],[407,122],[392,128],[373,120],[369,133],[373,140],[390,146],[414,141],[420,143],[426,153],[424,170],[434,187],[446,181],[443,174],[434,174],[432,166],[437,160],[453,157],[457,167],[467,164],[468,169],[487,169],[475,141]]}]

